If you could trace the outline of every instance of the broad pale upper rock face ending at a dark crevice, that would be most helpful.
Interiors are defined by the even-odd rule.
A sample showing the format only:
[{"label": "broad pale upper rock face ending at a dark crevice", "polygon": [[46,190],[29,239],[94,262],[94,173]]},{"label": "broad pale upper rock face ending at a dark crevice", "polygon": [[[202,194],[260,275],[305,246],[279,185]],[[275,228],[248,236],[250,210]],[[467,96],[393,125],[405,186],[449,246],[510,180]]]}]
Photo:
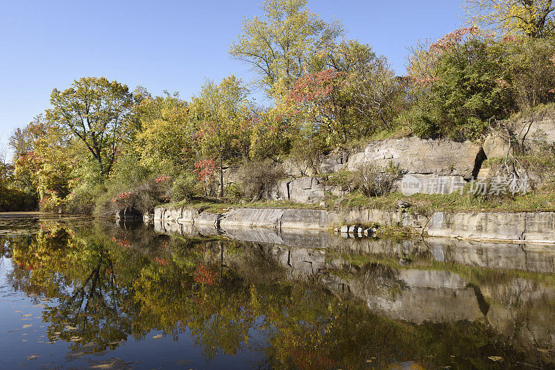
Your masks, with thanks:
[{"label": "broad pale upper rock face ending at a dark crevice", "polygon": [[481,163],[481,147],[470,141],[423,140],[417,137],[373,141],[364,153],[351,155],[348,170],[364,163],[386,167],[389,162],[408,173],[451,175],[470,179]]}]

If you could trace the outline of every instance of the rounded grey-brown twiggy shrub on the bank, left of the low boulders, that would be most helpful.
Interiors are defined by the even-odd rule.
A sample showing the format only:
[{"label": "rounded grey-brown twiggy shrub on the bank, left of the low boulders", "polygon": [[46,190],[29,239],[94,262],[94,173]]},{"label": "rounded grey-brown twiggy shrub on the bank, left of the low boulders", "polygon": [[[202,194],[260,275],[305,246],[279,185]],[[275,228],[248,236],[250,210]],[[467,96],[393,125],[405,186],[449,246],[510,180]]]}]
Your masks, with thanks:
[{"label": "rounded grey-brown twiggy shrub on the bank, left of the low boulders", "polygon": [[251,200],[260,200],[285,177],[280,164],[273,161],[251,161],[241,168],[241,191]]}]

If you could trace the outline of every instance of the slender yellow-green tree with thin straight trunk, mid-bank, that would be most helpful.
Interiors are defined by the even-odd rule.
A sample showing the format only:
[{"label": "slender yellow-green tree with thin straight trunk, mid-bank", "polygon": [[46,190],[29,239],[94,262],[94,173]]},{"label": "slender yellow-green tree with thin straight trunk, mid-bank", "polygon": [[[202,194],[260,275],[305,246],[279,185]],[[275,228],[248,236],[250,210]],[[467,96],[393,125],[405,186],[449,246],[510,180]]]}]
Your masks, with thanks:
[{"label": "slender yellow-green tree with thin straight trunk, mid-bank", "polygon": [[[246,100],[248,90],[241,79],[230,76],[219,85],[207,81],[200,95],[192,98],[191,120],[196,125],[195,139],[200,157],[215,159],[219,168],[220,193],[223,195],[223,161],[236,152],[234,141],[248,130]],[[248,146],[246,146],[248,148]]]}]

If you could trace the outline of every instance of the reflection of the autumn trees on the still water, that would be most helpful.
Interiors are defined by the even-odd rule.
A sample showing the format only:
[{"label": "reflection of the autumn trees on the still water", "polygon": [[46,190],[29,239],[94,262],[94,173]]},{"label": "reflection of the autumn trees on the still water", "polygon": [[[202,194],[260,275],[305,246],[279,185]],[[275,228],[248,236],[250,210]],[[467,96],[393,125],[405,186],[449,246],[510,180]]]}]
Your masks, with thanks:
[{"label": "reflection of the autumn trees on the still water", "polygon": [[[342,256],[338,267],[325,262],[335,261],[338,254],[320,251],[310,253],[324,256],[326,267],[311,274],[291,267],[288,247],[164,236],[146,227],[121,229],[101,223],[82,229],[44,224],[38,234],[3,238],[0,245],[3,256],[15,262],[8,276],[12,287],[56,302],[42,312],[49,322],[49,340],[69,342],[71,349],[85,353],[164,331],[176,341],[190,335],[208,361],[220,354],[262,353],[264,361],[251,364],[262,368],[553,364],[551,344],[543,343],[542,351],[520,346],[521,332],[502,333],[491,324],[492,315],[527,288],[515,288],[514,279],[508,280],[513,285],[496,285],[487,269],[475,274],[485,276],[482,282],[468,275],[463,279],[460,271],[445,272],[447,278],[442,279],[456,287],[450,290],[445,284],[414,283],[411,276],[435,276],[436,265],[407,270],[376,255]],[[280,259],[284,253],[288,257]],[[501,280],[505,276],[496,274]],[[520,281],[540,286],[536,290],[545,294],[554,290],[551,278],[525,276]],[[480,287],[488,283],[488,293],[481,294]],[[511,289],[518,292],[512,294]],[[448,319],[444,312],[437,318],[432,312],[432,319],[420,320],[387,308],[416,297],[410,294],[431,297],[435,304],[434,299],[447,301],[453,294],[466,299],[465,294],[476,291],[481,301],[472,310],[474,316]],[[376,302],[386,308],[380,311]],[[549,300],[540,307],[534,302],[539,312],[550,315]],[[422,308],[408,310],[420,315]],[[530,316],[529,311],[515,312]],[[494,355],[502,362],[488,359]]]}]

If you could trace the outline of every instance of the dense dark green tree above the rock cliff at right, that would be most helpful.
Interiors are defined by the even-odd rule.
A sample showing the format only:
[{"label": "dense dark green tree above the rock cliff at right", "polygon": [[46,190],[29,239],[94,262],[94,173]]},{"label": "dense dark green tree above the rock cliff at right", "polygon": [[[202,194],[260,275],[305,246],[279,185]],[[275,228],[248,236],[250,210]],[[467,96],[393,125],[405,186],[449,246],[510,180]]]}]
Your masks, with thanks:
[{"label": "dense dark green tree above the rock cliff at right", "polygon": [[411,111],[415,133],[479,139],[490,117],[509,116],[516,106],[502,59],[487,40],[451,45],[438,59],[438,76],[414,82],[425,91]]}]

